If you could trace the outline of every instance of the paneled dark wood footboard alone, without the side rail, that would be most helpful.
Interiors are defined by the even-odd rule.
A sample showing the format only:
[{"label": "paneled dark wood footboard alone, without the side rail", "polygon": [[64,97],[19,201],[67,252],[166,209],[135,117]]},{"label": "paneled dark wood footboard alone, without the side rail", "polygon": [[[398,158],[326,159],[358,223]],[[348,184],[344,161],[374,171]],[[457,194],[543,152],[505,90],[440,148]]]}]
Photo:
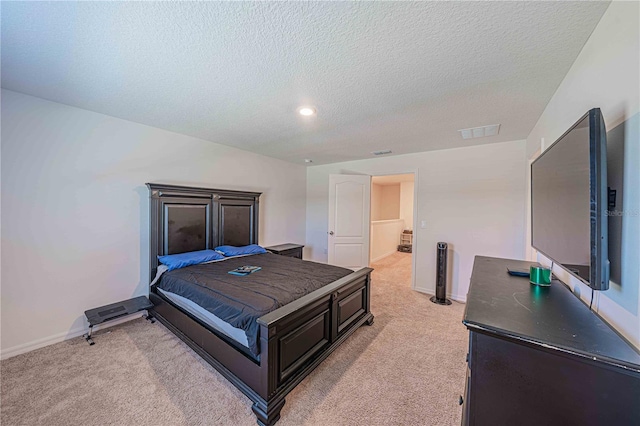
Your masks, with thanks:
[{"label": "paneled dark wood footboard alone, without the side rail", "polygon": [[285,396],[363,324],[370,311],[371,268],[363,268],[258,318],[264,388],[253,406],[258,424],[280,417]]}]

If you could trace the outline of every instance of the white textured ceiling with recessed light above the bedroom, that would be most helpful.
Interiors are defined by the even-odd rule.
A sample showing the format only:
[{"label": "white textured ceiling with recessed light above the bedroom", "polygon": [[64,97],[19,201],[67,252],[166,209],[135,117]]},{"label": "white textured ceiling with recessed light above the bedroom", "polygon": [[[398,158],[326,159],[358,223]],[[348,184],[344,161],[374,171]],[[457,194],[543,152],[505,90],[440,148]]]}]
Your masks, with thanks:
[{"label": "white textured ceiling with recessed light above the bedroom", "polygon": [[503,142],[607,6],[2,2],[2,87],[301,164]]}]

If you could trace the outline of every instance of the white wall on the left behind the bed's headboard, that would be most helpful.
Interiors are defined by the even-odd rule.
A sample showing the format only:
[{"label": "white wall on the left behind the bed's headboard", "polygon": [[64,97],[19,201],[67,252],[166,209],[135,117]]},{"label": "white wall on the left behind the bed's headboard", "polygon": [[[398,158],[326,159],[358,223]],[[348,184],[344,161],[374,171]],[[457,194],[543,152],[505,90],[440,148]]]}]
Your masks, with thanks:
[{"label": "white wall on the left behind the bed's headboard", "polygon": [[303,166],[5,90],[1,170],[5,357],[147,293],[145,182],[260,191],[260,243],[304,243]]}]

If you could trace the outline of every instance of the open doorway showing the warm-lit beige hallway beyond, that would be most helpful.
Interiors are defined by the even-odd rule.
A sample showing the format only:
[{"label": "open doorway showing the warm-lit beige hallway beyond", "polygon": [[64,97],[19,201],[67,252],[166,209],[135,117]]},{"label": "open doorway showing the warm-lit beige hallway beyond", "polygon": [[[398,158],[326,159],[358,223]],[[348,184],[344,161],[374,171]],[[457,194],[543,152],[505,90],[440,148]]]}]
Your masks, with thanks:
[{"label": "open doorway showing the warm-lit beige hallway beyond", "polygon": [[413,212],[413,173],[371,178],[370,262],[393,267],[402,283],[413,282]]}]

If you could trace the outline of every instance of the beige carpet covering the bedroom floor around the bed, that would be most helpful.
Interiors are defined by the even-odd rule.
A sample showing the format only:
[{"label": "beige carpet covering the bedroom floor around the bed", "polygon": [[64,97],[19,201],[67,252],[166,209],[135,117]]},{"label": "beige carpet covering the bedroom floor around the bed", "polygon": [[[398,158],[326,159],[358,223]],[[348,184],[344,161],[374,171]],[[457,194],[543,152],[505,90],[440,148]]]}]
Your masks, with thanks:
[{"label": "beige carpet covering the bedroom floor around the bed", "polygon": [[[372,327],[289,396],[279,425],[459,425],[464,305],[410,290],[409,254],[374,265]],[[9,425],[255,425],[251,403],[159,323],[142,319],[1,363]]]}]

